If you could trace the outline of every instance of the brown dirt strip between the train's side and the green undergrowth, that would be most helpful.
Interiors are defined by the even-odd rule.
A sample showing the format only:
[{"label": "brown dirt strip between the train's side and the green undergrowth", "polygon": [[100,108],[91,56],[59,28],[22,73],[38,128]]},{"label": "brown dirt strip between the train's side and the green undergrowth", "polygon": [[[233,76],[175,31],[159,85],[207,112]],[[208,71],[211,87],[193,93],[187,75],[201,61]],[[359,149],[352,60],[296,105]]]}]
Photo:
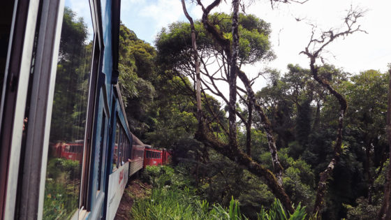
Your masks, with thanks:
[{"label": "brown dirt strip between the train's side and the green undergrowth", "polygon": [[131,209],[135,199],[149,196],[152,191],[152,186],[142,183],[139,179],[132,179],[124,191],[121,198],[115,220],[131,219]]}]

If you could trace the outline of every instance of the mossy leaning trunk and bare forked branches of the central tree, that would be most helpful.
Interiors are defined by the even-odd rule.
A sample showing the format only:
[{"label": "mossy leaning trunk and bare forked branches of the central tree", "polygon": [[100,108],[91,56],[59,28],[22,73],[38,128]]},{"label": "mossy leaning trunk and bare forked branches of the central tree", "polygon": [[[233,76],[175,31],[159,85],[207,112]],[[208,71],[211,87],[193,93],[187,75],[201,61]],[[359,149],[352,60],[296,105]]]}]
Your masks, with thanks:
[{"label": "mossy leaning trunk and bare forked branches of the central tree", "polygon": [[[214,25],[209,21],[209,18],[208,18],[210,10],[212,10],[212,8],[214,8],[215,6],[219,5],[219,3],[220,3],[220,1],[214,1],[209,6],[207,6],[207,8],[205,8],[204,6],[202,6],[202,3],[200,1],[198,1],[198,4],[200,4],[200,6],[202,6],[202,10],[204,12],[202,15],[202,24],[205,27],[205,29],[209,32],[209,34],[212,34],[214,41],[216,41],[216,43],[218,43],[218,45],[221,47],[223,52],[226,54],[227,60],[231,61],[231,63],[229,63],[229,64],[233,65],[232,63],[235,63],[235,60],[236,60],[236,57],[238,54],[236,48],[230,47],[230,40],[225,38],[223,36],[223,33],[219,29],[216,29],[216,27],[214,27]],[[237,13],[236,10],[237,9],[235,9],[234,13]],[[235,37],[235,25],[237,25],[237,24],[235,24],[235,22],[236,22],[235,18],[233,18],[233,39],[235,39],[235,41],[239,41],[239,38]],[[236,43],[234,43],[233,45],[236,45]],[[233,54],[235,54],[234,58],[232,57]],[[267,118],[265,117],[263,110],[260,108],[260,105],[256,104],[255,95],[251,89],[250,80],[246,77],[246,75],[243,72],[241,72],[239,70],[236,63],[234,64],[234,66],[231,66],[231,71],[233,68],[235,68],[235,71],[237,71],[239,78],[242,80],[242,82],[244,83],[244,86],[246,87],[245,90],[249,94],[249,99],[251,101],[251,105],[254,105],[256,112],[258,112],[258,114],[260,115],[260,118],[264,122],[264,129],[267,132],[267,139],[269,140],[268,142],[270,143],[269,144],[270,151],[272,152],[271,155],[272,155],[272,161],[273,161],[273,165],[274,165],[274,173],[277,175],[278,180],[274,177],[274,175],[272,174],[272,172],[270,172],[270,170],[265,169],[263,166],[260,166],[258,163],[254,163],[253,161],[251,161],[249,156],[246,156],[246,154],[241,152],[239,150],[239,148],[237,147],[236,140],[235,141],[230,140],[230,144],[234,144],[234,145],[224,145],[223,143],[219,142],[219,140],[216,140],[215,138],[213,138],[213,136],[208,135],[206,133],[207,130],[204,126],[200,127],[200,130],[196,133],[195,137],[198,140],[204,142],[206,145],[209,145],[209,147],[213,147],[214,149],[216,149],[219,152],[223,153],[224,155],[228,156],[228,158],[230,158],[231,160],[237,161],[237,163],[242,164],[243,166],[246,166],[247,168],[249,168],[249,171],[251,173],[265,177],[267,179],[268,186],[270,186],[272,191],[275,193],[276,197],[281,199],[282,203],[285,205],[285,207],[290,212],[293,212],[293,207],[290,204],[290,200],[289,200],[288,196],[286,196],[286,193],[281,188],[282,168],[281,168],[281,164],[279,163],[279,160],[278,160],[274,138],[273,138],[272,132],[270,130],[270,124],[267,121]],[[235,80],[233,80],[233,78],[235,78],[235,75],[233,75],[232,72],[230,72],[230,77],[231,77],[229,80],[230,88],[235,87],[235,90],[236,90]],[[232,98],[232,92],[233,92],[233,90],[231,89],[230,90],[230,101],[228,102],[230,105],[231,111],[233,111],[235,108],[235,107],[233,107],[233,105],[236,105],[235,98]],[[236,92],[235,92],[235,96],[236,96]],[[235,101],[235,103],[232,103],[231,101]],[[235,114],[236,114],[236,112],[235,112]],[[230,126],[234,126],[233,124],[235,124],[235,123],[236,122],[233,122],[233,112],[231,112],[230,113]]]}]

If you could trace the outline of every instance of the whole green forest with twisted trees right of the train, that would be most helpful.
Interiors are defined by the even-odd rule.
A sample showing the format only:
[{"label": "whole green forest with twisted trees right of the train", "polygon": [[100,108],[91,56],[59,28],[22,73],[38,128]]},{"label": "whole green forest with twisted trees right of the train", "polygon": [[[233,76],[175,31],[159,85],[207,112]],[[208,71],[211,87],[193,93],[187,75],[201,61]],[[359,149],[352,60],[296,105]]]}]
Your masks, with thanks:
[{"label": "whole green forest with twisted trees right of the train", "polygon": [[[308,66],[246,73],[279,56],[274,30],[238,0],[229,14],[211,2],[196,1],[202,19],[193,20],[182,0],[189,22],[161,29],[154,45],[121,24],[119,85],[131,131],[172,150],[172,168],[145,178],[164,188],[177,173],[175,187],[202,200],[201,210],[214,204],[214,217],[235,207],[237,219],[273,219],[281,207],[286,219],[391,219],[391,66],[352,74],[323,60],[333,41],[364,31],[364,11],[347,10],[338,30],[314,27],[301,52]],[[256,90],[259,80],[267,84]],[[170,177],[153,180],[154,172]]]}]

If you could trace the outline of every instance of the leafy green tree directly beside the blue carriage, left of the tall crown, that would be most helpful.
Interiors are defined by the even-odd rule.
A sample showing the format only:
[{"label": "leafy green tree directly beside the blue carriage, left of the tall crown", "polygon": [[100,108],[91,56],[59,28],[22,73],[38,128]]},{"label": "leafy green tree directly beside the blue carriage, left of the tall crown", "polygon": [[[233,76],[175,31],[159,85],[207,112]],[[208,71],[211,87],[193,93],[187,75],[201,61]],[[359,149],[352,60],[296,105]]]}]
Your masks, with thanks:
[{"label": "leafy green tree directly beside the blue carriage, left of the tall crown", "polygon": [[144,138],[154,126],[152,104],[158,77],[154,47],[140,40],[124,24],[119,29],[119,87],[131,131]]}]

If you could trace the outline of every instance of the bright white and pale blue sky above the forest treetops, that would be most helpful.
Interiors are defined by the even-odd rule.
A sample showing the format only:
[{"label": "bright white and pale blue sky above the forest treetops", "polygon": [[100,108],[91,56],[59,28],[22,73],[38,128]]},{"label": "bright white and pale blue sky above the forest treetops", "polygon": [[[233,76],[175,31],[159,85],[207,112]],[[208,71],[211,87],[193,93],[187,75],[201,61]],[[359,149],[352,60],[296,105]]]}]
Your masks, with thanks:
[{"label": "bright white and pale blue sky above the forest treetops", "polygon": [[[204,2],[204,1],[202,1]],[[205,1],[205,5],[208,1]],[[210,2],[210,1],[209,1]],[[187,8],[193,19],[200,19],[202,11],[189,1]],[[359,20],[362,29],[368,32],[356,33],[334,41],[327,47],[327,63],[344,71],[357,74],[368,69],[387,71],[391,63],[391,8],[390,0],[309,0],[300,3],[279,3],[270,6],[269,0],[258,0],[246,6],[246,13],[270,22],[270,40],[277,58],[267,66],[281,73],[288,64],[309,66],[309,59],[299,54],[309,42],[311,26],[319,29],[338,29],[342,18],[351,6],[367,10]],[[229,12],[230,1],[223,1],[214,12]],[[300,19],[297,22],[296,18]],[[177,21],[187,21],[183,15],[180,0],[122,0],[121,20],[138,38],[154,45],[156,34],[163,27]],[[263,64],[246,66],[246,71],[260,71]]]}]

